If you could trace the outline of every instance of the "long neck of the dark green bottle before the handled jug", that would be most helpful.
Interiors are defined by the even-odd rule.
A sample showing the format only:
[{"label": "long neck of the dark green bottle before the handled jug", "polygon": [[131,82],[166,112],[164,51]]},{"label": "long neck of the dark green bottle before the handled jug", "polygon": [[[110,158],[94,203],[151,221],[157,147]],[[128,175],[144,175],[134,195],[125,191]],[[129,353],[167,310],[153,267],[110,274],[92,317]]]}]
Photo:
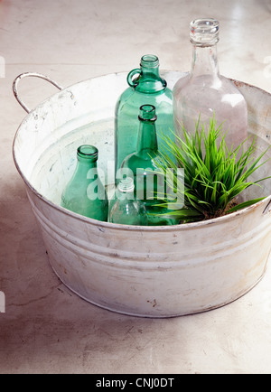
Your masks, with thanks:
[{"label": "long neck of the dark green bottle before the handled jug", "polygon": [[151,159],[158,151],[155,121],[155,107],[143,105],[139,112],[139,132],[136,155],[143,159]]}]

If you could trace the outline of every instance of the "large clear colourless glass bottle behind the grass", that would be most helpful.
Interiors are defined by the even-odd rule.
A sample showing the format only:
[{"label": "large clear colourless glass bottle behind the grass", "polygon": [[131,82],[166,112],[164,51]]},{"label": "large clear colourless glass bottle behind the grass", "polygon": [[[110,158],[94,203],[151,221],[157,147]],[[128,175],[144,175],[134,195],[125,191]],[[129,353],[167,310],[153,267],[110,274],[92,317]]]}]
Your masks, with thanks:
[{"label": "large clear colourless glass bottle behind the grass", "polygon": [[199,115],[209,126],[214,117],[223,123],[226,142],[237,147],[248,137],[248,107],[235,84],[220,75],[217,57],[220,23],[215,19],[196,19],[190,24],[192,70],[173,88],[175,131],[182,135],[182,125],[195,129]]}]

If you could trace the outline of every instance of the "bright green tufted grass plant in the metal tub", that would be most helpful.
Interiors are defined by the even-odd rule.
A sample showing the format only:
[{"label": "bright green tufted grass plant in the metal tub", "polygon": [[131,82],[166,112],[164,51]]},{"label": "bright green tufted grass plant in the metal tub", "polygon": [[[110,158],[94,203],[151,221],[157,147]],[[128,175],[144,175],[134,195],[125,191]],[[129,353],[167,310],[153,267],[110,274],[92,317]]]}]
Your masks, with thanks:
[{"label": "bright green tufted grass plant in the metal tub", "polygon": [[[238,196],[248,187],[270,178],[249,180],[251,174],[268,160],[261,161],[268,148],[255,158],[256,138],[248,147],[246,143],[248,144],[251,138],[229,150],[225,137],[223,125],[217,126],[214,117],[210,119],[207,130],[201,125],[199,117],[192,135],[182,127],[182,137],[175,135],[175,141],[164,136],[164,148],[156,157],[159,170],[166,174],[167,168],[173,169],[167,186],[171,187],[176,195],[180,191],[178,182],[184,181],[183,195],[176,198],[184,200],[184,206],[178,208],[178,205],[164,200],[161,205],[174,208],[166,215],[173,215],[183,222],[212,219],[264,199],[263,197],[238,203]],[[171,159],[171,154],[176,162]],[[177,173],[178,167],[184,169],[183,179]]]}]

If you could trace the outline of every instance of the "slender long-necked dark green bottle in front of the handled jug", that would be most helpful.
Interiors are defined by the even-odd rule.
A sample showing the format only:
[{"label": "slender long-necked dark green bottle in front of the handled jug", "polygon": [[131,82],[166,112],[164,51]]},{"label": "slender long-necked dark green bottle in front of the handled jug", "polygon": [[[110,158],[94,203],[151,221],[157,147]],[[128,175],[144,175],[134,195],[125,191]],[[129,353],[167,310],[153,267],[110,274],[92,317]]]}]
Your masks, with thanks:
[{"label": "slender long-necked dark green bottle in front of the handled jug", "polygon": [[134,177],[135,197],[145,204],[149,226],[177,224],[178,221],[175,219],[162,216],[168,210],[158,205],[161,203],[159,194],[160,192],[165,194],[166,187],[164,176],[157,174],[158,167],[155,163],[158,152],[155,107],[153,105],[141,106],[138,119],[136,151],[126,156],[118,173],[120,178],[121,176]]}]

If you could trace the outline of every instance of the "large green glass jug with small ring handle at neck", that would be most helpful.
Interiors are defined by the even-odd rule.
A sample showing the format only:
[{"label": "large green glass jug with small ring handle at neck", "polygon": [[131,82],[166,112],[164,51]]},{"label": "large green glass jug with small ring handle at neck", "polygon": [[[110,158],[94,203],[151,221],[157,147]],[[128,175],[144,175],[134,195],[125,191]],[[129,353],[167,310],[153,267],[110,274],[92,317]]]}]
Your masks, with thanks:
[{"label": "large green glass jug with small ring handle at neck", "polygon": [[173,93],[159,73],[159,59],[153,54],[141,58],[140,68],[127,75],[129,87],[117,100],[115,112],[115,169],[116,173],[126,155],[135,153],[138,132],[138,108],[149,104],[156,108],[157,141],[160,135],[173,137]]}]

